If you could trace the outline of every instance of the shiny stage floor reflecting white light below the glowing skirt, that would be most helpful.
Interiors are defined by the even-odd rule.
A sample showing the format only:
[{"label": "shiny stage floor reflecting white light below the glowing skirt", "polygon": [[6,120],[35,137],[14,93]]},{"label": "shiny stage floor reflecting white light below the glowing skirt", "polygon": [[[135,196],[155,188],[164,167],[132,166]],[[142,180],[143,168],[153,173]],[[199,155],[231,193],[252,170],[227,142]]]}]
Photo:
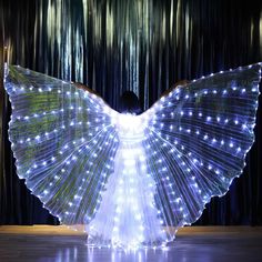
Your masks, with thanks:
[{"label": "shiny stage floor reflecting white light below the glowing skirt", "polygon": [[0,226],[1,262],[262,262],[262,228],[188,226],[168,250],[90,249],[66,226]]}]

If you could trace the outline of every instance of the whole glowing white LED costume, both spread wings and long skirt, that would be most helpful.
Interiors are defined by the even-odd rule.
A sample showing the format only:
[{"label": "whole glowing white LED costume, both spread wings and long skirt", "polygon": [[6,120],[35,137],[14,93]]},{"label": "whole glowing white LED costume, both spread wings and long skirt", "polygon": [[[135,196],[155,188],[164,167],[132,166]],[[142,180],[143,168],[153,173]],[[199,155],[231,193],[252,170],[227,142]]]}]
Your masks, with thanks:
[{"label": "whole glowing white LED costume, both spread wings and long skirt", "polygon": [[10,66],[9,135],[20,179],[88,243],[163,246],[223,195],[253,141],[261,64],[172,89],[143,113]]}]

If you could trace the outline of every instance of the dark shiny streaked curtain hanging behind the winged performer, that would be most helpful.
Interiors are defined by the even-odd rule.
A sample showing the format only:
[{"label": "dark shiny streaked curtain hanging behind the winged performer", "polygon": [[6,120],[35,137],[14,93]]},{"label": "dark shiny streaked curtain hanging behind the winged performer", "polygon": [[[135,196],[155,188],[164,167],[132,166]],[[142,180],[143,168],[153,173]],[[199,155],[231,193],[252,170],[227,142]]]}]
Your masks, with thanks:
[{"label": "dark shiny streaked curtain hanging behind the winged performer", "polygon": [[[145,110],[177,81],[262,61],[262,1],[1,0],[0,223],[58,224],[16,174],[3,61],[83,82],[113,108],[125,90]],[[196,224],[262,224],[261,98],[240,179]]]}]

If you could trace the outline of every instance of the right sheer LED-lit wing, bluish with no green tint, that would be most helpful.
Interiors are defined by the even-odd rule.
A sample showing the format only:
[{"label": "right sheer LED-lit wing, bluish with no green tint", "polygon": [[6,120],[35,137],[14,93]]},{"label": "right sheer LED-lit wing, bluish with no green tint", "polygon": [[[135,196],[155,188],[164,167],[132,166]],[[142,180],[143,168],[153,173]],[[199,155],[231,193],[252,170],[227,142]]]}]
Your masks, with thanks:
[{"label": "right sheer LED-lit wing, bluish with no green tint", "polygon": [[194,222],[244,168],[253,141],[261,66],[178,87],[141,115],[143,147],[163,224]]}]

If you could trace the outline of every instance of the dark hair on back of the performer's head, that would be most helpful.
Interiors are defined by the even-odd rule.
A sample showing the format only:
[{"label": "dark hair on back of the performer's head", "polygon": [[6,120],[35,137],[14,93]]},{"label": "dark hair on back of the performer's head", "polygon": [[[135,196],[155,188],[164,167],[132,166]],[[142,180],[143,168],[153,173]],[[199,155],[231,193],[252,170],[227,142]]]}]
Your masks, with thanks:
[{"label": "dark hair on back of the performer's head", "polygon": [[119,101],[118,111],[120,113],[142,113],[137,94],[132,91],[123,92]]}]

